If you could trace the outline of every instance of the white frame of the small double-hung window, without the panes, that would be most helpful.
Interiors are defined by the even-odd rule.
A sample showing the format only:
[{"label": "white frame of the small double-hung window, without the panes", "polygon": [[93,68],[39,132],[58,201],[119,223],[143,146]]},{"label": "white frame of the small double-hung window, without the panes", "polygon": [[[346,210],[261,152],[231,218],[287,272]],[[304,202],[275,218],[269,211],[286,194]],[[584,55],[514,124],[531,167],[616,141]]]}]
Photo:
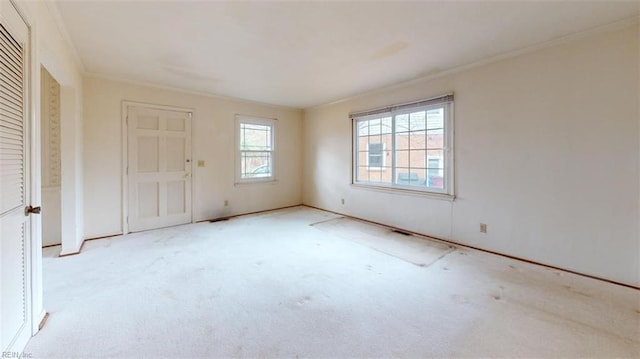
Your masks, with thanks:
[{"label": "white frame of the small double-hung window, without the panes", "polygon": [[[259,125],[259,126],[269,126],[271,128],[271,148],[266,151],[251,151],[251,150],[242,150],[241,149],[241,133],[240,128],[242,124],[249,125]],[[236,184],[246,184],[246,183],[260,183],[260,182],[275,182],[276,181],[276,131],[277,131],[277,119],[275,118],[266,118],[266,117],[257,117],[257,116],[247,116],[247,115],[236,115],[235,118],[235,183]],[[271,175],[265,177],[242,177],[242,154],[246,152],[269,152],[270,163],[271,163]]]}]

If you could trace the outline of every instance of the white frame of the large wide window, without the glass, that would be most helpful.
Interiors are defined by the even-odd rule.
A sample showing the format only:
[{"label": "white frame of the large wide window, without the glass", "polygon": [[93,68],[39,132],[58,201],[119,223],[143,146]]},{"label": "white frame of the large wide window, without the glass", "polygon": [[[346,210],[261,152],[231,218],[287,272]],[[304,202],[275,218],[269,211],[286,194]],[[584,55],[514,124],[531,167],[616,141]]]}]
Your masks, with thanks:
[{"label": "white frame of the large wide window, without the glass", "polygon": [[[444,100],[439,101],[442,98]],[[445,198],[453,200],[455,198],[455,177],[454,177],[454,102],[453,94],[444,95],[440,97],[421,100],[414,103],[389,106],[385,109],[371,110],[361,113],[351,114],[352,120],[352,166],[351,166],[351,184],[354,186],[367,188],[367,189],[379,189],[391,192],[402,192],[409,194],[428,195],[437,198]],[[432,103],[429,103],[431,102]],[[425,104],[426,103],[426,104]],[[415,105],[414,105],[415,104]],[[409,114],[413,112],[433,110],[436,108],[444,109],[443,118],[443,144],[442,144],[442,165],[443,165],[443,189],[430,188],[430,187],[418,187],[412,185],[397,184],[398,166],[397,166],[397,154],[398,149],[396,146],[396,118],[398,115]],[[385,117],[391,117],[391,148],[387,148],[391,152],[391,165],[392,170],[391,183],[384,182],[369,182],[358,180],[359,169],[359,136],[358,136],[358,124],[363,121],[381,119]],[[426,121],[426,119],[425,119]],[[425,149],[426,152],[426,149]],[[425,153],[425,168],[428,172],[428,160],[430,156]],[[367,154],[368,162],[368,154]],[[368,164],[367,164],[368,167]],[[379,170],[376,167],[372,167],[370,170]],[[428,178],[425,178],[428,181]]]}]

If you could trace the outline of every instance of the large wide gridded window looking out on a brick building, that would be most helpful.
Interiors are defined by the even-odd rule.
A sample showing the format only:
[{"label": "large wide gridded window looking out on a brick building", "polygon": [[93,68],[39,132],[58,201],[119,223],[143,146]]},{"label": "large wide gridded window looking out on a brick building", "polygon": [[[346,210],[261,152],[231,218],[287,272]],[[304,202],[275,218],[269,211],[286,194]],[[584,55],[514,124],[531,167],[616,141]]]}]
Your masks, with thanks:
[{"label": "large wide gridded window looking out on a brick building", "polygon": [[453,95],[351,114],[353,183],[453,196]]}]

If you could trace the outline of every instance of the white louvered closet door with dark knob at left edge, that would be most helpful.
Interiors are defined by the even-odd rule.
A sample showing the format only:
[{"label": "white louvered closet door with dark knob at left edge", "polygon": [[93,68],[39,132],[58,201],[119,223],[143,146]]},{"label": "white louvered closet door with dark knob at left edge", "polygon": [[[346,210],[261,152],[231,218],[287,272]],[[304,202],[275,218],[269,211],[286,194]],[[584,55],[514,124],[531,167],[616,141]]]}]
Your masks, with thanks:
[{"label": "white louvered closet door with dark knob at left edge", "polygon": [[28,146],[25,106],[27,28],[0,0],[0,340],[3,352],[22,350],[31,336]]}]

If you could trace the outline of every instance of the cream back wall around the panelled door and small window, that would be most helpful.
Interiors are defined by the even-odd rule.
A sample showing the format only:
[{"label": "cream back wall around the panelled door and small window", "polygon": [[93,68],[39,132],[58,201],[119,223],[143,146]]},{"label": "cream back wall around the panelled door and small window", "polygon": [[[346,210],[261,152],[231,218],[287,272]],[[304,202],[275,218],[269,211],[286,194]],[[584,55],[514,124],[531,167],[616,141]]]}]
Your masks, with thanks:
[{"label": "cream back wall around the panelled door and small window", "polygon": [[[205,161],[193,173],[196,221],[302,203],[300,110],[94,77],[84,91],[86,238],[122,232],[122,101],[194,110],[192,159]],[[278,119],[276,182],[234,185],[236,114]]]}]

